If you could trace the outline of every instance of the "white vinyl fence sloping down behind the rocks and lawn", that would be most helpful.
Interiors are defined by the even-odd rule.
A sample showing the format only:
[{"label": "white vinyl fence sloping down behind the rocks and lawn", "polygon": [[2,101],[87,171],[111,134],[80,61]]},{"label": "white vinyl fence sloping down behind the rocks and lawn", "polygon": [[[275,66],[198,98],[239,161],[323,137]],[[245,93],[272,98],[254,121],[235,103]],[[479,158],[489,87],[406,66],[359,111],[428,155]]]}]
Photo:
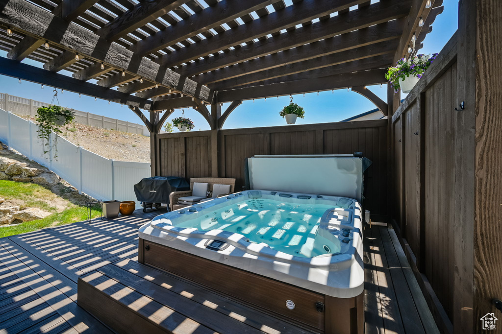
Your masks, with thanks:
[{"label": "white vinyl fence sloping down behind the rocks and lawn", "polygon": [[[54,149],[44,154],[37,130],[38,125],[32,121],[0,109],[2,142],[46,166],[80,192],[95,199],[136,201],[133,186],[151,176],[148,162],[107,159],[62,137],[58,138],[57,158],[54,159]],[[54,136],[53,133],[51,141]]]}]

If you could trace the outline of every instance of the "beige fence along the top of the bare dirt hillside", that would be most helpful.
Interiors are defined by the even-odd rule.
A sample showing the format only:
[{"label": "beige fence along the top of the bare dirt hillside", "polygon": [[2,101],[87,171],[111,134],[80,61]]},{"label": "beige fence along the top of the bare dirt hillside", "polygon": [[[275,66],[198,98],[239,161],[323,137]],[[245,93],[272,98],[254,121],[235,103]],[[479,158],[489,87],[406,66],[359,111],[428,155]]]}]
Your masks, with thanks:
[{"label": "beige fence along the top of the bare dirt hillside", "polygon": [[[24,97],[0,93],[0,108],[13,112],[17,115],[35,117],[37,109],[50,105],[47,102],[35,101]],[[90,125],[102,129],[119,130],[130,133],[150,136],[147,127],[138,123],[131,123],[102,115],[96,115],[86,111],[75,110],[75,122]]]}]

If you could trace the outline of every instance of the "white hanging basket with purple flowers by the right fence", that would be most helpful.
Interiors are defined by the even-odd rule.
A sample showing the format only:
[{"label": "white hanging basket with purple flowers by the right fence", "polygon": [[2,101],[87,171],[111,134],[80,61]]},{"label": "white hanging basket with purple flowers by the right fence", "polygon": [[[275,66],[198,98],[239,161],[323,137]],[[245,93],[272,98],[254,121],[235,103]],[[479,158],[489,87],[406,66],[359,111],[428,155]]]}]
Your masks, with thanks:
[{"label": "white hanging basket with purple flowers by the right fence", "polygon": [[424,72],[431,66],[437,53],[431,55],[416,55],[410,59],[398,60],[396,66],[389,67],[386,79],[394,87],[394,91],[401,89],[403,93],[409,93],[417,84]]}]

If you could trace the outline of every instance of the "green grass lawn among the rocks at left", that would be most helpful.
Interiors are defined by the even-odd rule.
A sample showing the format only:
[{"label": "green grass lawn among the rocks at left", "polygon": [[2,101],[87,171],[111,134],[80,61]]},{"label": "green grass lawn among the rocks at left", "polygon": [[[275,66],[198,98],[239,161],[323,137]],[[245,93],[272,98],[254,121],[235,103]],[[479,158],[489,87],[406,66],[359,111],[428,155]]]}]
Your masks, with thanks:
[{"label": "green grass lawn among the rocks at left", "polygon": [[[87,208],[67,202],[67,206],[62,212],[58,208],[51,206],[50,203],[58,196],[50,190],[33,184],[14,181],[0,181],[0,197],[6,200],[22,200],[23,207],[37,207],[45,211],[52,212],[50,216],[43,219],[25,222],[17,226],[0,227],[0,238],[15,234],[37,231],[46,227],[60,226],[87,219]],[[59,209],[61,211],[61,209]],[[92,217],[101,215],[101,208],[96,207],[92,210]]]}]

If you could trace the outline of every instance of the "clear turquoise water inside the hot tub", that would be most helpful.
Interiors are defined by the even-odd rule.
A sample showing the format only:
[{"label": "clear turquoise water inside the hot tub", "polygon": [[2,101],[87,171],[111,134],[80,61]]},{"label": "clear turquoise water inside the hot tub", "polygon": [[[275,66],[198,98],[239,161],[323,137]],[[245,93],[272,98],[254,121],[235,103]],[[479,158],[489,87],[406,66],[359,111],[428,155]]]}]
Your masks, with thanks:
[{"label": "clear turquoise water inside the hot tub", "polygon": [[313,257],[340,250],[337,238],[316,242],[319,222],[333,205],[282,203],[269,199],[248,199],[176,224],[199,231],[224,230],[238,233],[252,243],[301,257]]}]

